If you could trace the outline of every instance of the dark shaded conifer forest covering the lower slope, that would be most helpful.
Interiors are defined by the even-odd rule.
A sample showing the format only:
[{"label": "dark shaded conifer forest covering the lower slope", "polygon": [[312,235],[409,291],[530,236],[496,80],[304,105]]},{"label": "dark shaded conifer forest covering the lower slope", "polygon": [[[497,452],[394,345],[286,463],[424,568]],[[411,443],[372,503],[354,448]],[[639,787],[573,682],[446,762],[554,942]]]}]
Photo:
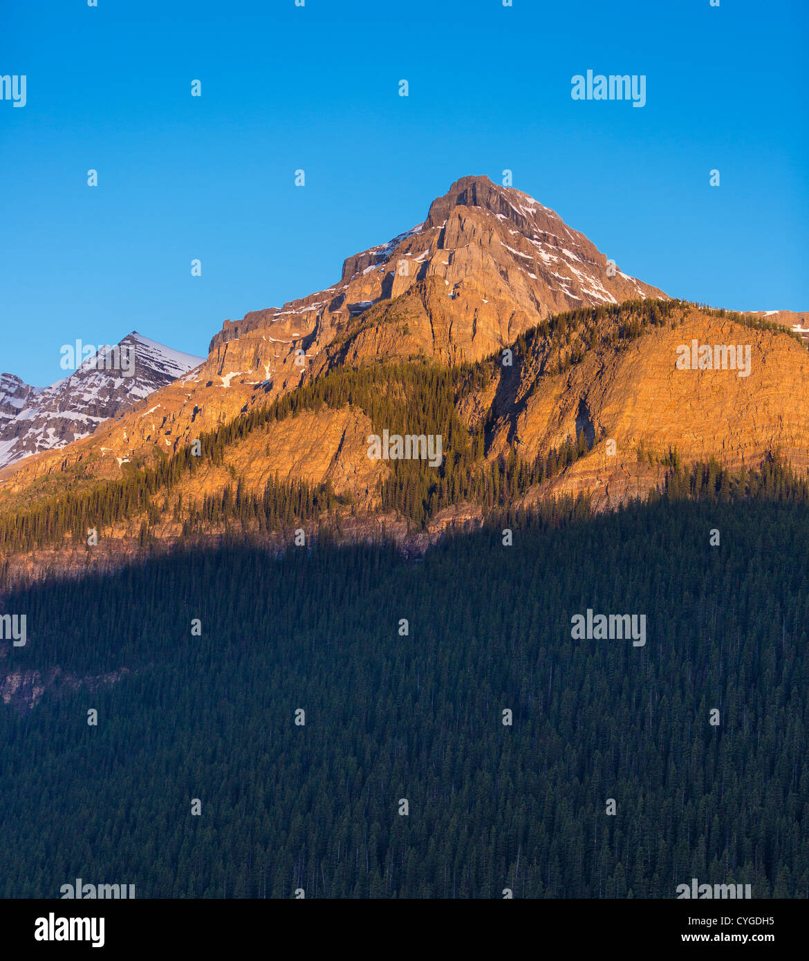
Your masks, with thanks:
[{"label": "dark shaded conifer forest covering the lower slope", "polygon": [[[809,897],[805,495],[674,458],[647,505],[418,563],[233,543],[7,595],[6,674],[118,679],[0,704],[0,895]],[[574,639],[588,608],[646,644]]]}]

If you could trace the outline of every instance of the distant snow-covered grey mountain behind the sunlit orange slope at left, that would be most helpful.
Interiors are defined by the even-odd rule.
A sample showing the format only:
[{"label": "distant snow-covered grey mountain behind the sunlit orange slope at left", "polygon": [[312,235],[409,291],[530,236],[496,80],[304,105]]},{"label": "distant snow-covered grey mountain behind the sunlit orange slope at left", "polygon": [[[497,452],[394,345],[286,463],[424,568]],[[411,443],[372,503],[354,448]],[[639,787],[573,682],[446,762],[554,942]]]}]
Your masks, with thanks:
[{"label": "distant snow-covered grey mountain behind the sunlit orange slope at left", "polygon": [[0,468],[86,437],[204,359],[133,331],[44,389],[0,375]]}]

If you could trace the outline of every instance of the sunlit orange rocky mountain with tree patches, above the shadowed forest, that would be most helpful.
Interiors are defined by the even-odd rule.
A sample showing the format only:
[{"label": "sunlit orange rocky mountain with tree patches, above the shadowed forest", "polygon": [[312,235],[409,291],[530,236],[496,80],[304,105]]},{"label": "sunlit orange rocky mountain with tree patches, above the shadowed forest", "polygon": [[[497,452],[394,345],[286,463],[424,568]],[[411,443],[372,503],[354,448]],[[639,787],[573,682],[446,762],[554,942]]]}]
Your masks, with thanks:
[{"label": "sunlit orange rocky mountain with tree patches, above the shadowed forest", "polygon": [[[674,451],[728,469],[782,452],[804,471],[809,356],[791,318],[676,301],[608,266],[529,194],[461,178],[422,224],[346,258],[342,283],[226,321],[199,367],[0,471],[0,507],[65,485],[90,505],[83,491],[120,483],[140,507],[110,514],[105,536],[142,547],[223,533],[245,510],[271,525],[261,504],[288,502],[288,487],[357,536],[381,523],[424,546],[477,523],[497,492],[502,505],[583,496],[596,510],[642,498]],[[679,370],[693,341],[747,344],[750,376]],[[367,438],[385,430],[449,430],[444,465],[369,458]],[[147,468],[148,490],[135,483]]]}]

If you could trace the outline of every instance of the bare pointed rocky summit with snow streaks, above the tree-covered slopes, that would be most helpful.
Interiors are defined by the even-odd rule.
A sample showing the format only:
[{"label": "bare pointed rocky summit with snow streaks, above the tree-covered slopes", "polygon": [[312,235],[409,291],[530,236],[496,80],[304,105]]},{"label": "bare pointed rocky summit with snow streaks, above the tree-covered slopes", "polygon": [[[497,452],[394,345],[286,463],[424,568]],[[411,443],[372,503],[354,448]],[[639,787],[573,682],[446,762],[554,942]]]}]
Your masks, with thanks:
[{"label": "bare pointed rocky summit with snow streaks, above the tree-covered slopes", "polygon": [[[227,321],[209,350],[262,330],[257,336],[274,345],[261,363],[262,382],[270,382],[271,369],[295,349],[282,344],[304,338],[306,356],[314,356],[335,335],[345,342],[357,324],[379,327],[386,316],[407,314],[400,329],[409,333],[382,344],[366,332],[363,350],[469,360],[554,313],[645,297],[666,294],[625,274],[530,194],[468,175],[432,201],[424,223],[346,258],[337,283]],[[255,365],[248,356],[238,363],[233,370]]]}]

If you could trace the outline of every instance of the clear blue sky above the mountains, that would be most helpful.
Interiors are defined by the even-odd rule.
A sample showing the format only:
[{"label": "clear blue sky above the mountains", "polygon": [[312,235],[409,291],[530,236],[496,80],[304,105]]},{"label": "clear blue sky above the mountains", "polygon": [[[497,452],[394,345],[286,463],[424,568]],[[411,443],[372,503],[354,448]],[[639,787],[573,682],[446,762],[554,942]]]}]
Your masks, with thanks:
[{"label": "clear blue sky above the mountains", "polygon": [[[0,370],[52,382],[61,344],[134,329],[205,354],[504,168],[674,296],[809,308],[808,21],[805,0],[3,0],[27,104],[0,102]],[[645,74],[646,107],[574,101],[587,69]]]}]

